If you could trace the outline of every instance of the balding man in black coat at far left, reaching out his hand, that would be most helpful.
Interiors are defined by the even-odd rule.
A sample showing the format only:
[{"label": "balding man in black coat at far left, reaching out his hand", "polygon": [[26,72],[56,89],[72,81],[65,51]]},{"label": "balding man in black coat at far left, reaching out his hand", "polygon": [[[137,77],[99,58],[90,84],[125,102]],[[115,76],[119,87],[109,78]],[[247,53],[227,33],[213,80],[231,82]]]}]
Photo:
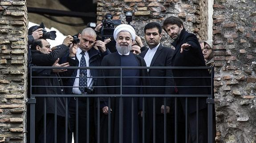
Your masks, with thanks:
[{"label": "balding man in black coat at far left, reaching out his hand", "polygon": [[[69,45],[72,43],[73,38],[71,36],[67,36],[64,41],[68,41],[65,44],[57,46],[57,49],[52,51],[49,43],[45,39],[37,39],[31,45],[31,53],[32,53],[32,64],[37,66],[53,66],[56,65],[59,58],[65,55],[65,52],[69,50]],[[71,49],[74,47],[71,47]],[[71,66],[75,65],[75,60],[69,58],[67,60],[68,63],[62,64],[62,66]],[[66,70],[57,70],[61,72],[62,76],[70,76],[70,73]],[[60,75],[55,70],[33,70],[33,76],[44,77],[44,78],[33,78],[32,85],[38,86],[33,87],[33,94],[65,94]],[[48,78],[49,77],[49,78]],[[52,78],[53,77],[53,78]],[[49,86],[49,87],[40,87],[40,86]],[[55,86],[55,87],[53,87]],[[45,98],[46,103],[44,102],[44,98],[37,98],[36,103],[36,141],[37,143],[44,142],[44,131],[43,131],[43,111],[44,111],[44,103],[46,104],[46,142],[53,143],[54,142],[54,115],[57,114],[57,141],[65,142],[65,99],[62,97],[57,97],[57,113],[55,113],[55,98],[47,97]]]}]

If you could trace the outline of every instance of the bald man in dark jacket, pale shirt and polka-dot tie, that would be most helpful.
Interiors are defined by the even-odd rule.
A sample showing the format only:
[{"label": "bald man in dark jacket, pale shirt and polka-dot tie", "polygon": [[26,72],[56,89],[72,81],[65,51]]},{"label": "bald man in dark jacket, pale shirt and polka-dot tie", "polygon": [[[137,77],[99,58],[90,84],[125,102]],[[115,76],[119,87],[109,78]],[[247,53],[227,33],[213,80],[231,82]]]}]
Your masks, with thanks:
[{"label": "bald man in dark jacket, pale shirt and polka-dot tie", "polygon": [[[105,43],[102,41],[96,41],[96,33],[92,28],[85,28],[81,34],[78,35],[80,43],[78,48],[70,51],[69,57],[78,61],[79,67],[81,66],[100,66],[102,58],[110,54],[109,50],[106,50]],[[94,94],[92,86],[97,84],[98,70],[97,69],[76,69],[74,70],[72,77],[65,82],[65,86],[73,86],[73,88],[67,88],[67,94],[74,94],[74,96]],[[90,78],[88,78],[90,77]],[[79,87],[78,87],[79,86]],[[86,98],[71,98],[69,103],[69,123],[71,132],[74,133],[74,139],[76,141],[76,101],[78,100],[78,141],[79,143],[86,142],[88,138],[86,136],[86,128],[89,128],[89,143],[94,143],[94,100],[89,99],[89,118],[86,116]],[[86,127],[86,120],[89,120],[90,126]],[[69,134],[69,143],[72,140],[72,133]]]}]

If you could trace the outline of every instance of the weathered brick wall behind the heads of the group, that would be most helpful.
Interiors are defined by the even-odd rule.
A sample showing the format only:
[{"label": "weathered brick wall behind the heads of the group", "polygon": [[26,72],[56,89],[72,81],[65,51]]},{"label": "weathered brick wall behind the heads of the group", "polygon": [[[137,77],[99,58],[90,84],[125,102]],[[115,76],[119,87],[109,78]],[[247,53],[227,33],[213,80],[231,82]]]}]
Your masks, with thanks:
[{"label": "weathered brick wall behind the heads of the group", "polygon": [[[195,33],[201,39],[207,39],[207,0],[98,0],[97,22],[105,19],[105,14],[110,13],[113,19],[121,19],[126,23],[125,12],[133,12],[131,24],[135,27],[137,35],[145,43],[143,28],[146,23],[159,22],[169,16],[179,16],[187,31]],[[171,38],[163,32],[163,42],[171,46]],[[146,43],[145,43],[146,44]]]}]

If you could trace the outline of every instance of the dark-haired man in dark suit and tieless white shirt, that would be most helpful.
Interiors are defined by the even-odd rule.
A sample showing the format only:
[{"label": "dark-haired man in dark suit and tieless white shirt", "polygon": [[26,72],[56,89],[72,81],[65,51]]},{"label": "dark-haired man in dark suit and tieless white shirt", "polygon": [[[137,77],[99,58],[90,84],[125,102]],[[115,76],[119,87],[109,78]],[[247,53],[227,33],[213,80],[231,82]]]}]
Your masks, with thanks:
[{"label": "dark-haired man in dark suit and tieless white shirt", "polygon": [[[151,22],[146,24],[144,27],[146,43],[149,49],[143,51],[140,56],[142,56],[146,62],[146,66],[171,66],[171,58],[174,50],[165,47],[160,43],[162,37],[162,27],[159,23]],[[149,69],[151,86],[174,86],[174,81],[172,77],[171,69]],[[162,78],[166,77],[166,78]],[[174,94],[174,87],[152,87],[151,94]],[[169,99],[169,98],[167,98]],[[170,106],[171,100],[167,100],[167,118],[170,117]],[[155,104],[155,133],[156,141],[158,143],[164,142],[164,98],[157,97],[155,103],[153,103],[153,98],[147,98],[147,109],[146,109],[146,143],[153,142],[153,104]],[[170,119],[167,120],[167,124],[170,124]],[[169,132],[169,129],[168,129]],[[169,136],[170,137],[170,136]],[[167,143],[170,143],[170,138],[167,138]]]}]

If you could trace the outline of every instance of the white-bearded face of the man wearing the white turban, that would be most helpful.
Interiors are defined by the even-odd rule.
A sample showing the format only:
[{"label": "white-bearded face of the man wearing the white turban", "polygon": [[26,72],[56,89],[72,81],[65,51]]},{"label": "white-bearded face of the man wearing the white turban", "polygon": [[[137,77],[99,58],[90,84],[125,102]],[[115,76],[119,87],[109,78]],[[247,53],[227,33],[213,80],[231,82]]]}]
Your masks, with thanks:
[{"label": "white-bearded face of the man wearing the white turban", "polygon": [[119,53],[126,54],[131,50],[133,44],[132,37],[129,32],[121,31],[117,36],[116,48]]}]

